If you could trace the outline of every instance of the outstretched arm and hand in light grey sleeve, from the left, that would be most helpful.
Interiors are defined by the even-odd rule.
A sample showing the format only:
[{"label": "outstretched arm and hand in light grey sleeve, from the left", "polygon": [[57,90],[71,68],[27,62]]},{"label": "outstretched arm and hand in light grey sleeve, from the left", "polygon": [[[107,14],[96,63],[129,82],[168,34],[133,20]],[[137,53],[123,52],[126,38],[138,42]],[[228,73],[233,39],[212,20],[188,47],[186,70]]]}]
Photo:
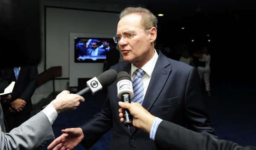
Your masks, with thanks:
[{"label": "outstretched arm and hand in light grey sleeve, from the left", "polygon": [[1,147],[13,147],[6,149],[15,150],[36,149],[44,144],[44,142],[54,138],[51,124],[56,119],[57,114],[74,110],[81,102],[84,102],[83,97],[77,94],[70,94],[69,91],[62,91],[45,108],[52,107],[54,109],[52,113],[49,114],[50,109],[43,109],[42,112],[31,117],[21,126],[11,130],[10,133],[1,132]]}]

